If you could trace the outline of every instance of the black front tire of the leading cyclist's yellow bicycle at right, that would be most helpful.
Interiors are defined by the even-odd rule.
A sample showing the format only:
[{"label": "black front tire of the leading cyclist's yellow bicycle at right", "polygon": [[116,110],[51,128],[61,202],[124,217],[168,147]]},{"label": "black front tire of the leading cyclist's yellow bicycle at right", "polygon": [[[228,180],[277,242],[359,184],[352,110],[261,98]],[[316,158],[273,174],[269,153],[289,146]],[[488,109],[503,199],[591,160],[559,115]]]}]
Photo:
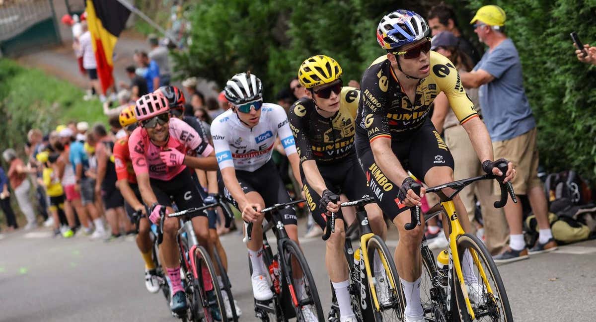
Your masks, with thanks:
[{"label": "black front tire of the leading cyclist's yellow bicycle at right", "polygon": [[[478,237],[471,234],[463,234],[457,239],[457,250],[460,259],[463,258],[466,249],[474,250],[474,252],[477,254],[480,264],[484,264],[483,270],[485,271],[487,280],[489,281],[489,283],[491,283],[492,281],[491,287],[493,289],[493,293],[496,292],[498,294],[498,298],[495,298],[495,296],[491,294],[484,294],[483,292],[483,297],[486,297],[485,301],[492,305],[474,305],[474,315],[476,315],[476,319],[474,319],[474,321],[495,321],[495,314],[498,314],[498,320],[496,321],[513,322],[513,315],[511,314],[511,307],[509,305],[509,299],[507,298],[507,292],[505,291],[505,286],[503,284],[501,274],[499,274],[499,270],[496,268],[496,264],[492,259],[491,253],[489,253],[488,249],[486,249],[486,246],[482,243],[482,241],[478,239]],[[463,264],[463,260],[461,260],[460,263]],[[474,264],[474,266],[476,265]],[[481,285],[484,284],[482,282],[482,278],[480,277],[479,283],[481,283]],[[465,301],[461,292],[461,287],[459,286],[459,283],[455,284],[457,284],[457,287],[455,287],[455,299],[457,301],[458,307],[460,308],[460,312],[462,312],[462,321],[471,321],[470,314],[468,313],[468,310],[465,306]],[[484,288],[485,287],[483,287],[483,289]],[[500,308],[496,307],[499,306],[499,304]],[[482,309],[482,306],[486,306],[486,309]],[[481,316],[481,309],[484,312],[492,312],[492,317],[490,317],[489,320],[485,320],[483,318],[479,319],[479,317],[486,317],[486,315]]]}]

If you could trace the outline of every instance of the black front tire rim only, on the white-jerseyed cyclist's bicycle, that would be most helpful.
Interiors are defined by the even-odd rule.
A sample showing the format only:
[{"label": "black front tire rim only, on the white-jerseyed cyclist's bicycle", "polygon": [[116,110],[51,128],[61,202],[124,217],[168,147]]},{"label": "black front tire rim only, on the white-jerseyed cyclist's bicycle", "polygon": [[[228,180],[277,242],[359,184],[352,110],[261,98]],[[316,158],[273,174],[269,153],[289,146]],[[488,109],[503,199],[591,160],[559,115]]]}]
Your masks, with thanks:
[{"label": "black front tire rim only, on the white-jerseyed cyclist's bicycle", "polygon": [[[321,306],[321,299],[319,299],[319,293],[316,290],[315,278],[312,277],[311,268],[308,266],[308,262],[306,262],[306,258],[300,250],[298,244],[296,244],[293,240],[287,240],[283,244],[283,265],[281,265],[282,274],[286,281],[288,281],[288,288],[291,286],[294,290],[294,278],[292,276],[292,268],[291,268],[291,256],[296,258],[298,265],[300,266],[300,270],[302,270],[303,278],[306,279],[308,286],[305,285],[305,291],[307,295],[311,298],[313,308],[315,309],[315,315],[318,321],[325,321],[325,314],[323,312]],[[289,255],[289,256],[288,256]],[[299,301],[303,301],[300,299]],[[294,306],[296,311],[296,321],[305,321],[302,315],[302,308]],[[300,318],[302,317],[302,318]]]}]

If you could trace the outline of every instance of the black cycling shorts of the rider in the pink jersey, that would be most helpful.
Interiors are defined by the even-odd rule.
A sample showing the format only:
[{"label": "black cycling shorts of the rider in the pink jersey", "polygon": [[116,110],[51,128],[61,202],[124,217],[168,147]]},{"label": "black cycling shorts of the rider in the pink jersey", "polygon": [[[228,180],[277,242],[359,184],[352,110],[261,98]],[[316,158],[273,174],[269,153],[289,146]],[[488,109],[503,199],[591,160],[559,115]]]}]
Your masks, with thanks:
[{"label": "black cycling shorts of the rider in the pink jersey", "polygon": [[[159,205],[172,207],[173,202],[179,210],[203,206],[203,199],[188,167],[169,181],[151,178],[150,183]],[[203,211],[195,215],[207,216],[207,213]]]}]

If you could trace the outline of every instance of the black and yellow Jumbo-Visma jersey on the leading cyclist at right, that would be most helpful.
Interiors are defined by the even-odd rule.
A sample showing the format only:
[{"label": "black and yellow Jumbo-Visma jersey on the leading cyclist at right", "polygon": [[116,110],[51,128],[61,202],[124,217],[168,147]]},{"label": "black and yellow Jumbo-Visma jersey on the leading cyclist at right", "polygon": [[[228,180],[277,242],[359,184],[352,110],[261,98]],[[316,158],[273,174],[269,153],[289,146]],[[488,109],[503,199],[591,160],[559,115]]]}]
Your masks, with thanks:
[{"label": "black and yellow Jumbo-Visma jersey on the leading cyclist at right", "polygon": [[361,92],[356,131],[359,135],[366,134],[369,142],[378,137],[403,140],[419,129],[440,92],[447,95],[461,124],[478,116],[454,64],[434,51],[430,51],[430,75],[418,82],[414,102],[403,92],[386,55],[373,61],[364,72]]}]

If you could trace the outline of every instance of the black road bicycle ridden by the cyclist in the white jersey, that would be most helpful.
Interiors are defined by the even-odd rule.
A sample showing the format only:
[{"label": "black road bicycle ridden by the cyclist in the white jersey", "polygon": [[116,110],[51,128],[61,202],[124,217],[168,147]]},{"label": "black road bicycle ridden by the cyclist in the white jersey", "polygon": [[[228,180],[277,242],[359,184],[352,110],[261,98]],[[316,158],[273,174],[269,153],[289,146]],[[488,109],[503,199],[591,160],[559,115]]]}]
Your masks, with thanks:
[{"label": "black road bicycle ridden by the cyclist in the white jersey", "polygon": [[[260,211],[268,221],[263,227],[263,261],[269,269],[268,280],[273,293],[273,298],[269,301],[254,300],[255,315],[263,322],[269,321],[269,314],[274,315],[277,321],[287,321],[294,317],[297,321],[311,321],[309,317],[312,315],[316,317],[316,321],[325,320],[311,269],[298,244],[288,237],[280,214],[280,210],[302,202],[305,200],[275,204]],[[244,226],[246,242],[252,239],[253,223],[245,222]],[[269,230],[273,231],[277,239],[275,255],[266,236]],[[250,273],[252,274],[252,265]]]}]

